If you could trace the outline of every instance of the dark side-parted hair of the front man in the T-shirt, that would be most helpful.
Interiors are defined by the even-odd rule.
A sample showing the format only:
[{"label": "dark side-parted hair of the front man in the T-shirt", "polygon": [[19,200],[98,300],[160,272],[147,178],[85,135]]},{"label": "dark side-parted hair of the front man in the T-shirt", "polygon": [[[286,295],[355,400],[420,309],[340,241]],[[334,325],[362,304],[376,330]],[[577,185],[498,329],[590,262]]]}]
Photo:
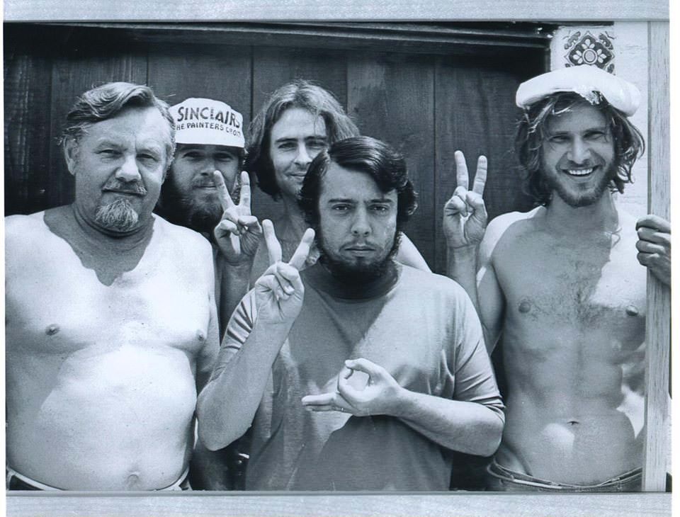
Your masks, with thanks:
[{"label": "dark side-parted hair of the front man in the T-shirt", "polygon": [[417,194],[409,179],[404,157],[385,142],[371,137],[340,140],[312,160],[298,196],[298,205],[308,225],[314,229],[319,227],[322,179],[331,162],[344,169],[368,174],[382,193],[397,191],[397,232],[402,231],[418,207]]}]

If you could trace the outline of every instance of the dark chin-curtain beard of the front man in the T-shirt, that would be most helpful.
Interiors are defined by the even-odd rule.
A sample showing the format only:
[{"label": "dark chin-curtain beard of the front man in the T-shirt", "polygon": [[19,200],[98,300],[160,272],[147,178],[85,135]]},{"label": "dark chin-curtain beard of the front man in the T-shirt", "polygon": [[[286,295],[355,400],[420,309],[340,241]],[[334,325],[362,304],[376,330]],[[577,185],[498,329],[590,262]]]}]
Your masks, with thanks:
[{"label": "dark chin-curtain beard of the front man in the T-shirt", "polygon": [[359,258],[356,261],[348,262],[343,258],[336,258],[328,251],[321,228],[317,228],[316,232],[317,244],[320,252],[319,262],[321,262],[339,282],[344,285],[356,285],[358,287],[373,282],[373,280],[378,280],[378,278],[381,278],[390,270],[392,258],[395,257],[399,250],[399,240],[401,239],[401,232],[395,232],[392,247],[383,258],[375,258],[371,261]]}]

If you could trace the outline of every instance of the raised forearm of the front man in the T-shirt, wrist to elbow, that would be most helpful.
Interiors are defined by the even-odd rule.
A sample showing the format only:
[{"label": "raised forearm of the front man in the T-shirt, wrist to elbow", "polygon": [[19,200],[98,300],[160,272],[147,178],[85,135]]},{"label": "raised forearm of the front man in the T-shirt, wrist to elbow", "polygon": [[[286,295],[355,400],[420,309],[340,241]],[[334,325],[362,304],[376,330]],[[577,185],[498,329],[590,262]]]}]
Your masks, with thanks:
[{"label": "raised forearm of the front man in the T-shirt, wrist to elbow", "polygon": [[248,430],[292,325],[256,321],[226,365],[218,358],[217,373],[200,392],[197,405],[199,437],[208,449],[226,447]]}]

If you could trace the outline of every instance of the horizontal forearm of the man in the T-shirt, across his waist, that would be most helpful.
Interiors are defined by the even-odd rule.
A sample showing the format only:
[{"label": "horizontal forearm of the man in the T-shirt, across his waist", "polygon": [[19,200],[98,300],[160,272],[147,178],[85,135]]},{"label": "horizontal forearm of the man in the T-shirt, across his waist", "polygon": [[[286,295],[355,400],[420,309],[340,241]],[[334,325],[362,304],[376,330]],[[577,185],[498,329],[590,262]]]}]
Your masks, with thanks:
[{"label": "horizontal forearm of the man in the T-shirt, across his waist", "polygon": [[504,416],[500,408],[403,388],[392,416],[448,449],[480,456],[492,455],[503,433]]}]

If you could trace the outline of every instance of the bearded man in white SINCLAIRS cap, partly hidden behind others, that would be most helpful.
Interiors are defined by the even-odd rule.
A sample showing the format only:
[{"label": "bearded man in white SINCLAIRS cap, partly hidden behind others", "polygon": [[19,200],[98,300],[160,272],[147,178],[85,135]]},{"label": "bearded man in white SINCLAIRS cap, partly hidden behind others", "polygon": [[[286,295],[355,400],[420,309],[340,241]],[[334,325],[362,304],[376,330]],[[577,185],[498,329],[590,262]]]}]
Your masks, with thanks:
[{"label": "bearded man in white SINCLAIRS cap, partly hidden behind others", "polygon": [[[235,305],[248,291],[261,227],[250,212],[243,116],[210,98],[171,106],[176,152],[156,212],[200,232],[212,244],[220,336]],[[237,488],[246,460],[238,444],[212,453],[200,443],[191,462],[194,489]]]}]

